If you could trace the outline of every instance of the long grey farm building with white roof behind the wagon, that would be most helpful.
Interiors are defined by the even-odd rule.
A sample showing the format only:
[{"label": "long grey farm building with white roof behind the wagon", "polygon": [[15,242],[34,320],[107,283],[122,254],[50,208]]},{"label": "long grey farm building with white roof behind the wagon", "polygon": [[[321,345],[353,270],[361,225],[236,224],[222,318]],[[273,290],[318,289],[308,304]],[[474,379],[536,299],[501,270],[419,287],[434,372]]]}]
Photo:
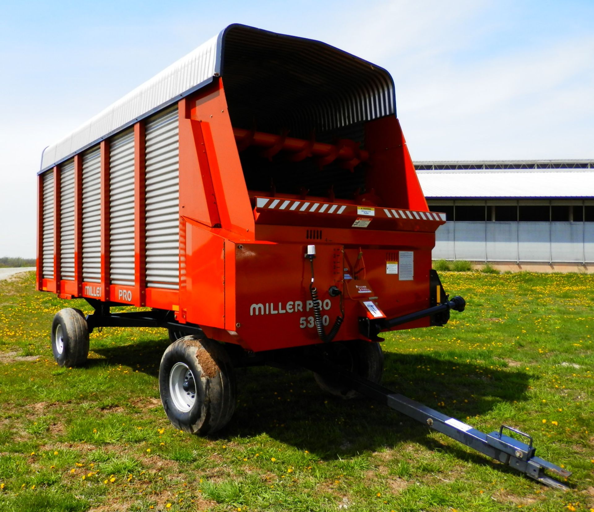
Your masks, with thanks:
[{"label": "long grey farm building with white roof behind the wagon", "polygon": [[434,260],[555,270],[594,266],[594,160],[434,161],[415,168],[447,222]]}]

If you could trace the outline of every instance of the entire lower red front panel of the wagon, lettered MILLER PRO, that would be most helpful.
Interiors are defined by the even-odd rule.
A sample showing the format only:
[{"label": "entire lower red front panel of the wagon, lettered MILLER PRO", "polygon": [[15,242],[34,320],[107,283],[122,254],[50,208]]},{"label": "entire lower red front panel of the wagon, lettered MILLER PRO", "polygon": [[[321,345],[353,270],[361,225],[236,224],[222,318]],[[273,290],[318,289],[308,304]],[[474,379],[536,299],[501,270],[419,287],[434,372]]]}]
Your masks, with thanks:
[{"label": "entire lower red front panel of the wagon, lettered MILLER PRO", "polygon": [[[342,314],[341,301],[344,310],[344,322],[334,341],[362,338],[358,322],[368,313],[365,301],[372,301],[387,317],[429,307],[431,247],[355,249],[317,243],[315,249],[314,285],[327,333]],[[233,330],[237,336],[229,341],[252,351],[321,343],[314,325],[311,263],[304,257],[306,251],[303,243],[236,244]],[[228,251],[226,257],[232,254]],[[339,288],[342,297],[330,295],[332,286]],[[229,304],[231,290],[226,292]],[[400,328],[428,325],[429,320],[422,319]]]}]

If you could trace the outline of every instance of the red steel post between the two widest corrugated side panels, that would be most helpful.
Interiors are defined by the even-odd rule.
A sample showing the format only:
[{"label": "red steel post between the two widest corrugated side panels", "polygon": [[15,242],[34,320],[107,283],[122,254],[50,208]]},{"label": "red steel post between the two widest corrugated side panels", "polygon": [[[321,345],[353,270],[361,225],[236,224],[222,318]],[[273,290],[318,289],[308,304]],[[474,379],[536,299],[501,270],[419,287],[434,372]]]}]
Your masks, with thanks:
[{"label": "red steel post between the two widest corrugated side panels", "polygon": [[144,121],[134,125],[134,295],[136,305],[146,305],[145,231],[145,139]]}]

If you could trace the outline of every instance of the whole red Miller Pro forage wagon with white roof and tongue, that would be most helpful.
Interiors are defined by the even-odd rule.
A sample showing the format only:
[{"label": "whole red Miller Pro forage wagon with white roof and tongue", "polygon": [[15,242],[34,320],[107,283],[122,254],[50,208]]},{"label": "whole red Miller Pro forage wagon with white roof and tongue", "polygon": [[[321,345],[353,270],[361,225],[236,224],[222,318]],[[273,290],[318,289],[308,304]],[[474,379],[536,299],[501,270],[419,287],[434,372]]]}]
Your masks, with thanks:
[{"label": "whole red Miller Pro forage wagon with white roof and tongue", "polygon": [[[444,325],[435,230],[385,69],[314,40],[232,25],[46,148],[37,288],[53,355],[81,365],[96,327],[160,326],[163,408],[209,434],[235,409],[233,367],[290,361],[532,478],[567,470],[380,386],[378,335]],[[149,311],[112,313],[112,306]],[[525,435],[520,433],[520,435]],[[527,437],[527,436],[526,436]]]}]

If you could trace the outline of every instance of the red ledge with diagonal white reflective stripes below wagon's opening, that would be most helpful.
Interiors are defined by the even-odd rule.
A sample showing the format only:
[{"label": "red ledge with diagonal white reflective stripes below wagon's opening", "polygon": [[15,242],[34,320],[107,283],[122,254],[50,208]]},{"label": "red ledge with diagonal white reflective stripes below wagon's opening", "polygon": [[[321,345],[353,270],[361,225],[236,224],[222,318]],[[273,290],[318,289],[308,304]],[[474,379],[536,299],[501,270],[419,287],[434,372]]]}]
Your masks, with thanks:
[{"label": "red ledge with diagonal white reflective stripes below wagon's opening", "polygon": [[435,212],[362,206],[315,199],[254,198],[257,224],[324,226],[434,233],[445,224]]}]

